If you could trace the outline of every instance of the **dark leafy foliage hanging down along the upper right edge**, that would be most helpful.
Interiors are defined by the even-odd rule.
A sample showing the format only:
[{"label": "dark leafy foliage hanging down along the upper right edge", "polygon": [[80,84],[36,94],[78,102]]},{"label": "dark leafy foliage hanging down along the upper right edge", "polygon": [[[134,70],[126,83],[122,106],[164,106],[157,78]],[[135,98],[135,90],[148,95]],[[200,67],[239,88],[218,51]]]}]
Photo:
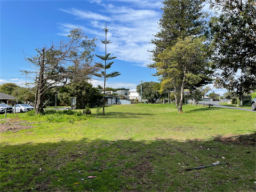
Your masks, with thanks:
[{"label": "dark leafy foliage hanging down along the upper right edge", "polygon": [[219,11],[209,23],[216,85],[234,91],[241,99],[243,94],[256,89],[255,3],[247,0],[208,2]]}]

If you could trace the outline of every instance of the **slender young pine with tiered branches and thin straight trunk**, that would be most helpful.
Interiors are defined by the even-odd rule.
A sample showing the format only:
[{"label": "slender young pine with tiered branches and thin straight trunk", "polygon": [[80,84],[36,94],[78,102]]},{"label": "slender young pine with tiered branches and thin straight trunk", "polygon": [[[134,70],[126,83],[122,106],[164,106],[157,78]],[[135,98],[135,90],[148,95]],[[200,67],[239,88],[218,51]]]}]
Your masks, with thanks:
[{"label": "slender young pine with tiered branches and thin straight trunk", "polygon": [[103,87],[103,115],[105,115],[105,89],[106,89],[106,80],[108,78],[112,78],[112,77],[117,77],[118,75],[121,75],[119,72],[117,71],[113,71],[109,74],[106,73],[106,70],[109,69],[111,67],[111,65],[114,63],[114,61],[108,62],[109,60],[115,59],[116,57],[110,57],[111,53],[107,53],[107,44],[111,43],[109,40],[107,40],[107,33],[108,30],[107,29],[107,22],[106,22],[106,27],[104,29],[102,29],[103,31],[105,31],[105,35],[106,35],[106,39],[104,41],[101,41],[101,43],[105,44],[105,55],[96,55],[98,58],[100,58],[101,60],[104,61],[104,65],[100,62],[97,62],[96,66],[103,69],[103,71],[100,71],[99,74],[97,74],[98,77],[102,77],[104,78],[104,87]]}]

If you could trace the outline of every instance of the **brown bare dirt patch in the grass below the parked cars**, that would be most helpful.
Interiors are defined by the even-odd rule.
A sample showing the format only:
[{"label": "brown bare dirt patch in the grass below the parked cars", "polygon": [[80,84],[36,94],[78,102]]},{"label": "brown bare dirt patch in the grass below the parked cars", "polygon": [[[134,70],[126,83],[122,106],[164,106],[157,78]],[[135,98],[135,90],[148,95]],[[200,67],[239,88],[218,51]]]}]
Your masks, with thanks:
[{"label": "brown bare dirt patch in the grass below the parked cars", "polygon": [[6,131],[18,132],[24,129],[31,129],[33,125],[27,121],[11,121],[6,119],[4,123],[0,123],[0,133]]}]

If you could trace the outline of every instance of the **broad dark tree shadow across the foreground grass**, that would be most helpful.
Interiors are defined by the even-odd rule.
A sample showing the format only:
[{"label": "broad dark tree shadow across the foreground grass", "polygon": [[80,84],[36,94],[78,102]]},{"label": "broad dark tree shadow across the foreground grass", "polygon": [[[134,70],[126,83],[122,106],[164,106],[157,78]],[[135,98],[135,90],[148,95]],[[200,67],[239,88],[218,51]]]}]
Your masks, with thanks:
[{"label": "broad dark tree shadow across the foreground grass", "polygon": [[[0,191],[255,191],[255,142],[251,134],[2,145]],[[217,161],[229,165],[183,171]]]}]

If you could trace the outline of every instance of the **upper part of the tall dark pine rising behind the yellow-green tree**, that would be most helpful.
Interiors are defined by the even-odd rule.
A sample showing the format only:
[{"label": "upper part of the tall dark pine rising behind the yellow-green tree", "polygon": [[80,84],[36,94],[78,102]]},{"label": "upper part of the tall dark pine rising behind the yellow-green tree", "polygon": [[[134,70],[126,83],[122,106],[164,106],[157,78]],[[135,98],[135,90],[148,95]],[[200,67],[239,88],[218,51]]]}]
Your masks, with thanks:
[{"label": "upper part of the tall dark pine rising behind the yellow-green tree", "polygon": [[165,0],[162,18],[159,20],[159,32],[150,43],[155,45],[151,52],[153,63],[149,68],[156,68],[158,54],[177,43],[178,38],[199,36],[205,30],[205,13],[202,11],[202,0]]}]

